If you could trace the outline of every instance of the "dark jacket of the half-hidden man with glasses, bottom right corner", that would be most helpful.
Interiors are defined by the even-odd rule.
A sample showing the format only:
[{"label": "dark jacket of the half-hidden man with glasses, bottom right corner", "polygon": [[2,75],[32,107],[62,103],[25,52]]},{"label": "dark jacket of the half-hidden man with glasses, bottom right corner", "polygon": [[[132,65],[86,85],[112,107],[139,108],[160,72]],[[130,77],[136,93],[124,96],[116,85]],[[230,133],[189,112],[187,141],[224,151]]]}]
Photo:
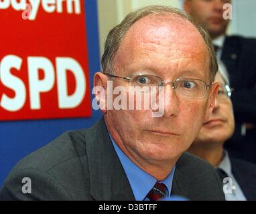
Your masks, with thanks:
[{"label": "dark jacket of the half-hidden man with glasses, bottom right corner", "polygon": [[249,201],[256,200],[256,165],[230,156],[232,173]]}]

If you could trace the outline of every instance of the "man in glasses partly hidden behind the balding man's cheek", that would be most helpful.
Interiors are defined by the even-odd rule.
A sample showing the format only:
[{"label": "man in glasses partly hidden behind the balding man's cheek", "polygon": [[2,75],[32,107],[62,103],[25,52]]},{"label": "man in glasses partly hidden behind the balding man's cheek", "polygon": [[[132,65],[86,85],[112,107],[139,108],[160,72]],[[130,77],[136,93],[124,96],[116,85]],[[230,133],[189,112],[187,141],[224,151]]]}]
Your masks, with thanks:
[{"label": "man in glasses partly hidden behind the balding man's cheek", "polygon": [[215,80],[220,83],[220,88],[215,98],[214,110],[210,119],[204,122],[189,151],[216,167],[221,180],[225,177],[231,179],[223,182],[227,186],[227,201],[255,200],[256,165],[234,158],[223,148],[224,143],[233,135],[235,120],[229,77],[225,67],[219,65],[219,68],[220,72]]}]

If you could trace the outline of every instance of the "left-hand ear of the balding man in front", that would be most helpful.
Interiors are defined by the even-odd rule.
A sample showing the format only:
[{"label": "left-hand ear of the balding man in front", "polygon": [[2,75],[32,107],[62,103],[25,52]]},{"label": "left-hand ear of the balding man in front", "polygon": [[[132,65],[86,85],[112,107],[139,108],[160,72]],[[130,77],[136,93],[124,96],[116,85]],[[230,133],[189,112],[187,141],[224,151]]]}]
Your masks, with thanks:
[{"label": "left-hand ear of the balding man in front", "polygon": [[94,74],[93,91],[101,112],[107,113],[107,76],[102,72]]}]

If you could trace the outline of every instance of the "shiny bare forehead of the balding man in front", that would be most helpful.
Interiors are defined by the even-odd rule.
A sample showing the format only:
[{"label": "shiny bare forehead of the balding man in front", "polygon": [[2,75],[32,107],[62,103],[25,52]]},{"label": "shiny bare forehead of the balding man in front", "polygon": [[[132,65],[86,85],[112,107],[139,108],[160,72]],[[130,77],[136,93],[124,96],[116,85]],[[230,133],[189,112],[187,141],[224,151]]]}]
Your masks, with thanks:
[{"label": "shiny bare forehead of the balding man in front", "polygon": [[[141,58],[143,58],[141,60]],[[148,15],[135,22],[123,37],[116,54],[119,66],[133,62],[169,62],[197,59],[208,65],[208,49],[198,29],[179,15]],[[168,61],[169,60],[169,61]],[[200,60],[202,62],[200,62]],[[165,64],[166,66],[166,64]],[[206,66],[208,68],[208,66]]]}]

